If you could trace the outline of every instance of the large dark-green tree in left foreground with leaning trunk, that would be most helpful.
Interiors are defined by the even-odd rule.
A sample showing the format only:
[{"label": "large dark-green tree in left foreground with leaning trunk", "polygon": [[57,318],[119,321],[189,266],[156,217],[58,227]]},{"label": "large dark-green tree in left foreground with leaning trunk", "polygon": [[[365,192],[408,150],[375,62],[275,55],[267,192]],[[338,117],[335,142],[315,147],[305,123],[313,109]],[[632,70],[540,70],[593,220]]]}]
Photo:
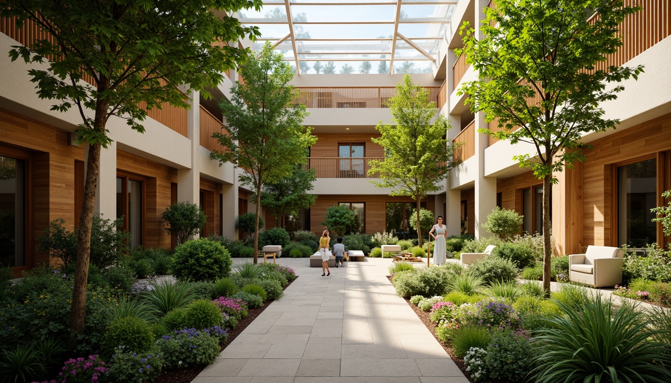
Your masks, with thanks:
[{"label": "large dark-green tree in left foreground with leaning trunk", "polygon": [[[26,19],[53,36],[38,38],[29,48],[13,46],[11,60],[45,62],[48,68],[30,69],[40,99],[56,100],[54,111],[76,107],[83,122],[76,129],[88,148],[84,199],[77,239],[77,262],[72,292],[71,343],[84,329],[87,274],[93,204],[100,153],[111,139],[107,121],[126,119],[136,131],[147,111],[169,103],[189,107],[175,85],[188,85],[208,97],[206,89],[223,80],[223,72],[244,61],[248,50],[218,46],[216,42],[259,36],[231,15],[243,7],[260,9],[260,0],[6,0],[3,17]],[[85,77],[86,76],[86,77]],[[85,82],[88,80],[91,85]],[[87,111],[88,110],[88,111]]]}]

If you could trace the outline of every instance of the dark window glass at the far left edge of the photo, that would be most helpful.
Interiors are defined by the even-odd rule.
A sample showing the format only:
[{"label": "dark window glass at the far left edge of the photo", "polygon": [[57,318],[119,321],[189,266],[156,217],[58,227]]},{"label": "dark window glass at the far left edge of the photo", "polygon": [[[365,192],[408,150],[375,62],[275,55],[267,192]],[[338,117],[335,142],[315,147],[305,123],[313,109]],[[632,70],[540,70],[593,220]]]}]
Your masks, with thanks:
[{"label": "dark window glass at the far left edge of the photo", "polygon": [[0,264],[25,266],[25,160],[0,155]]}]

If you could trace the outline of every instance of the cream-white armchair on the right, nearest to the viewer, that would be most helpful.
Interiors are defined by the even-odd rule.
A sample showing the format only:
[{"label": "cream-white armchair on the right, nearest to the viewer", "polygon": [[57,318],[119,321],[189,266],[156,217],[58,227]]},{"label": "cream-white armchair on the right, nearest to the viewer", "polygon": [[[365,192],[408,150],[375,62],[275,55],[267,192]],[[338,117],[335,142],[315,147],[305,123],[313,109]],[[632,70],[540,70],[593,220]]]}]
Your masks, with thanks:
[{"label": "cream-white armchair on the right, nearest to the viewer", "polygon": [[624,254],[620,248],[589,245],[585,254],[569,256],[569,278],[595,287],[621,284]]}]

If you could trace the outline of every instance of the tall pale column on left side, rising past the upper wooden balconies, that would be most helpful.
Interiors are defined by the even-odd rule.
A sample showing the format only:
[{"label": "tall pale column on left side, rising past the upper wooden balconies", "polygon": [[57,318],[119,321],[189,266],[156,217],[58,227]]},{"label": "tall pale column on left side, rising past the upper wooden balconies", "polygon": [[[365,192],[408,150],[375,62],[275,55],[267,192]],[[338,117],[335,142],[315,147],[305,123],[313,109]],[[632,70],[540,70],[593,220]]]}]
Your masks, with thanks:
[{"label": "tall pale column on left side, rising past the upper wooden balconies", "polygon": [[[177,200],[178,202],[199,203],[201,174],[196,154],[201,145],[200,93],[187,91],[187,95],[192,98],[191,109],[187,110],[187,138],[191,140],[191,168],[177,169]],[[197,237],[198,235],[195,236]]]}]

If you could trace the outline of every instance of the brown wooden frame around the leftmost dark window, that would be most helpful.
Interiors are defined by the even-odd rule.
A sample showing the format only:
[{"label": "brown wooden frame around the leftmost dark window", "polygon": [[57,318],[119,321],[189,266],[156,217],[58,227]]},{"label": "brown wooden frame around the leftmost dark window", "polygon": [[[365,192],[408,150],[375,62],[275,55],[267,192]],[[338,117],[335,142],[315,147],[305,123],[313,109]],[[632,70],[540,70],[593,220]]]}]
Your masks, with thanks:
[{"label": "brown wooden frame around the leftmost dark window", "polygon": [[23,190],[23,266],[14,266],[11,268],[13,276],[20,277],[21,273],[27,270],[32,269],[35,265],[34,257],[34,248],[35,243],[33,241],[32,227],[33,227],[33,216],[34,216],[34,204],[33,204],[33,156],[30,152],[24,150],[9,148],[7,146],[0,145],[0,156],[14,158],[15,160],[25,161],[25,174],[23,174],[23,179],[25,180],[24,190]]}]

